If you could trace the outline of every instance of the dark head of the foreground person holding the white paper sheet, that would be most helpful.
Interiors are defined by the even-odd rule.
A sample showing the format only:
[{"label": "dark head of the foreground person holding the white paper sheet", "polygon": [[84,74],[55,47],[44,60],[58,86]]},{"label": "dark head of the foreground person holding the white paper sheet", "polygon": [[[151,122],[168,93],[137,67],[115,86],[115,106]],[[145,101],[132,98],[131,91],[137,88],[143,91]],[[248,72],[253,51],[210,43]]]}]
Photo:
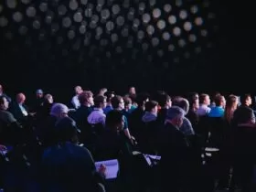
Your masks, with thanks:
[{"label": "dark head of the foreground person holding the white paper sheet", "polygon": [[59,119],[55,124],[54,133],[57,143],[72,142],[76,144],[79,142],[78,133],[80,133],[80,129],[70,117]]}]

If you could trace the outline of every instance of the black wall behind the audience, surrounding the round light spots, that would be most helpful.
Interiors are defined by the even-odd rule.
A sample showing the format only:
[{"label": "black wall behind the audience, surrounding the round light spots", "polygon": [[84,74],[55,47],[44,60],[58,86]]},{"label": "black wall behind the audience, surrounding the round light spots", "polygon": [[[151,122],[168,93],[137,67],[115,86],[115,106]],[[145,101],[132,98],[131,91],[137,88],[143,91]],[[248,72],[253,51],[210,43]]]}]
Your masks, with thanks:
[{"label": "black wall behind the audience, surrounding the round light spots", "polygon": [[[14,0],[12,0],[13,2]],[[128,37],[122,36],[123,27],[115,24],[117,16],[110,16],[107,21],[114,23],[113,30],[108,33],[105,23],[101,22],[101,14],[95,7],[101,1],[88,0],[87,5],[79,2],[76,10],[69,9],[69,1],[54,0],[48,3],[48,11],[39,10],[40,4],[47,1],[28,1],[23,4],[18,1],[15,8],[8,7],[7,0],[0,3],[2,16],[8,21],[6,26],[0,27],[0,59],[1,74],[0,82],[10,95],[17,91],[25,91],[28,95],[37,88],[51,92],[56,98],[67,101],[72,95],[73,87],[81,85],[84,89],[98,91],[101,87],[107,87],[120,93],[125,93],[129,86],[135,86],[138,91],[165,90],[170,93],[185,93],[187,91],[225,93],[242,92],[254,93],[254,23],[253,6],[249,1],[240,3],[221,0],[211,1],[150,1],[128,0],[128,7],[123,6],[124,1],[104,1],[104,9],[111,12],[112,5],[120,5],[121,11],[118,16],[123,16],[123,27],[129,28]],[[11,3],[12,3],[11,2]],[[155,34],[147,35],[143,25],[142,16],[137,11],[139,4],[145,5],[144,13],[151,14],[150,25],[155,27]],[[80,34],[81,22],[75,22],[75,13],[94,5],[93,15],[100,16],[97,23],[103,29],[101,37],[95,39],[95,28],[87,27],[85,34]],[[166,14],[163,6],[172,5],[170,14]],[[59,5],[66,5],[65,16],[58,15]],[[188,14],[187,20],[193,24],[197,16],[203,18],[203,25],[193,24],[192,30],[182,30],[180,36],[173,35],[174,27],[183,27],[184,20],[179,19],[180,10],[190,13],[192,5],[197,5],[197,14]],[[36,16],[27,16],[28,6],[37,10]],[[144,40],[137,40],[138,30],[133,30],[133,21],[126,18],[130,8],[134,8],[134,18],[141,20],[138,30],[144,31]],[[160,18],[154,19],[152,12],[155,8],[162,11]],[[14,21],[14,13],[19,11],[23,14],[21,22]],[[53,14],[51,24],[45,23],[46,15]],[[209,18],[213,14],[213,18]],[[169,25],[168,16],[176,16],[175,25]],[[63,27],[63,18],[69,17],[69,28]],[[255,17],[255,16],[254,16]],[[157,29],[157,21],[165,20],[165,30]],[[33,26],[37,20],[39,28]],[[83,15],[83,21],[88,24],[91,17]],[[106,21],[106,22],[107,22]],[[1,22],[0,22],[1,23]],[[53,24],[59,28],[55,34],[51,34]],[[27,27],[25,35],[20,34],[20,27]],[[69,39],[69,30],[74,32],[74,37]],[[202,30],[207,30],[207,35],[201,35]],[[162,40],[164,31],[171,35],[170,40]],[[111,35],[116,34],[119,38],[117,43],[111,42]],[[40,38],[40,34],[44,36]],[[68,34],[68,35],[67,35]],[[197,41],[190,43],[189,34],[195,34]],[[91,37],[90,37],[91,36]],[[83,44],[85,37],[90,39],[86,46]],[[159,39],[159,44],[152,46],[152,39]],[[62,39],[59,43],[59,38]],[[109,44],[101,45],[101,40],[107,39]],[[127,42],[132,39],[133,45],[127,48]],[[179,46],[179,40],[186,41],[185,47]],[[144,50],[143,44],[148,48]],[[175,49],[169,50],[172,44]],[[118,53],[117,47],[122,49]],[[158,55],[158,51],[164,53]],[[188,55],[188,56],[187,56]]]}]

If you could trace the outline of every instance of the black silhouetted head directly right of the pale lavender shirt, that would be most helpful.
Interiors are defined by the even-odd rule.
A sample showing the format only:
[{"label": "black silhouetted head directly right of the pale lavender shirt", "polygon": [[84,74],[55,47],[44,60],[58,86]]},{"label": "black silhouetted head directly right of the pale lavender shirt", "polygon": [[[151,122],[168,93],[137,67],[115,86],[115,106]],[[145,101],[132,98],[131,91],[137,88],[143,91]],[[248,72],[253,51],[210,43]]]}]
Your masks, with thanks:
[{"label": "black silhouetted head directly right of the pale lavender shirt", "polygon": [[123,113],[112,110],[106,116],[106,127],[112,131],[120,131],[122,129]]}]

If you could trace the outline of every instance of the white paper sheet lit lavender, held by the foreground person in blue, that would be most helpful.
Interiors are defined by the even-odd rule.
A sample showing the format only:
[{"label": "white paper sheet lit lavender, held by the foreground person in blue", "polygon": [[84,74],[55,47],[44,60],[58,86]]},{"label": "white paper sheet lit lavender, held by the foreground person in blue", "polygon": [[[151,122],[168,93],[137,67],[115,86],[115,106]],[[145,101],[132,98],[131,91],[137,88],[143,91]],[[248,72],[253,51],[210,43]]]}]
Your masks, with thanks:
[{"label": "white paper sheet lit lavender, held by the foreground person in blue", "polygon": [[119,171],[119,164],[117,159],[95,162],[97,171],[100,169],[101,165],[106,166],[106,179],[112,179],[117,177]]}]

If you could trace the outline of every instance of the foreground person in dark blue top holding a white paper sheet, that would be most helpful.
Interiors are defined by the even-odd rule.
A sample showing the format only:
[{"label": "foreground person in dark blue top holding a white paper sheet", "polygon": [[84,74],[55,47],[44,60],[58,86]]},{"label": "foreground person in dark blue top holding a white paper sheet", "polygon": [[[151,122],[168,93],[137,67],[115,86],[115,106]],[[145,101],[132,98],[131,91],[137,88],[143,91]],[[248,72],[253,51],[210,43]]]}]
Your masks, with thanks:
[{"label": "foreground person in dark blue top holding a white paper sheet", "polygon": [[54,128],[55,144],[44,150],[41,178],[43,191],[104,192],[102,165],[96,170],[90,151],[78,144],[76,123],[69,117],[58,120]]}]

